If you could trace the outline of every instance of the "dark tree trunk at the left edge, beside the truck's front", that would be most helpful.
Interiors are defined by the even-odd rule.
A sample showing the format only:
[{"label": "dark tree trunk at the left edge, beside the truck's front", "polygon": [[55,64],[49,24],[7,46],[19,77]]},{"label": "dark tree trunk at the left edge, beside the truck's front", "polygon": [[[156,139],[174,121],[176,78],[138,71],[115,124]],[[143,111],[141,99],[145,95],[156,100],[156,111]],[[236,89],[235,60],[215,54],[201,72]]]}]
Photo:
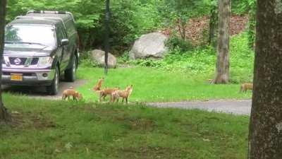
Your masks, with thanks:
[{"label": "dark tree trunk at the left edge, beside the truck's front", "polygon": [[[4,52],[4,31],[5,31],[5,17],[6,17],[6,0],[0,0],[0,59],[3,60]],[[2,102],[1,78],[2,78],[2,61],[0,61],[0,122],[8,122],[11,116],[8,114],[6,107]]]}]

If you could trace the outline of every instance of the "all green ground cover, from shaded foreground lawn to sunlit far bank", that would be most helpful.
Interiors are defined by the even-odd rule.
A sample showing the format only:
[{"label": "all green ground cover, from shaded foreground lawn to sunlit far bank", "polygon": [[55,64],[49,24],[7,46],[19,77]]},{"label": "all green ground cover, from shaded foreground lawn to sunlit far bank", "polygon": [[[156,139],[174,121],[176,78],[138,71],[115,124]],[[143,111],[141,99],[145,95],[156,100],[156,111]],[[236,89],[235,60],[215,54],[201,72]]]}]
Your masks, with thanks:
[{"label": "all green ground cover, from shaded foreground lawn to sunlit far bank", "polygon": [[[237,38],[237,37],[236,37]],[[239,39],[241,37],[238,37]],[[245,38],[245,37],[244,37]],[[133,84],[130,102],[250,99],[239,84],[252,79],[253,54],[231,46],[231,82],[211,85],[215,53],[210,49],[164,61],[159,69],[130,66],[104,70],[82,63],[77,88],[87,102],[35,100],[4,93],[13,124],[0,125],[0,159],[243,159],[249,117],[144,105],[102,105],[91,89],[105,77],[107,88]],[[231,42],[232,44],[232,42]],[[239,47],[236,47],[239,46]],[[173,55],[174,56],[174,55]],[[176,59],[178,59],[178,55]],[[166,66],[180,69],[165,71]]]}]

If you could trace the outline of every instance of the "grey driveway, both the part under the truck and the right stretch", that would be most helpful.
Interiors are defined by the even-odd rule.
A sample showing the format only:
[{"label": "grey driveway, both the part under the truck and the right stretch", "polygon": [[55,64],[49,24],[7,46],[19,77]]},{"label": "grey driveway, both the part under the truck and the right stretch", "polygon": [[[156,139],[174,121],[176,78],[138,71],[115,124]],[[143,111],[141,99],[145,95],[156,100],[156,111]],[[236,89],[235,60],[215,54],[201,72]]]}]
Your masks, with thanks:
[{"label": "grey driveway, both the part under the truck and the right stretch", "polygon": [[[26,86],[2,86],[4,92],[20,93],[28,95],[30,98],[44,98],[51,100],[61,99],[63,90],[69,87],[78,88],[87,83],[87,80],[76,80],[74,83],[61,82],[58,95],[47,95],[44,87],[26,87]],[[152,107],[174,107],[180,109],[200,109],[209,112],[223,112],[230,114],[250,115],[251,100],[209,100],[209,101],[193,101],[193,102],[149,102],[148,106]]]}]

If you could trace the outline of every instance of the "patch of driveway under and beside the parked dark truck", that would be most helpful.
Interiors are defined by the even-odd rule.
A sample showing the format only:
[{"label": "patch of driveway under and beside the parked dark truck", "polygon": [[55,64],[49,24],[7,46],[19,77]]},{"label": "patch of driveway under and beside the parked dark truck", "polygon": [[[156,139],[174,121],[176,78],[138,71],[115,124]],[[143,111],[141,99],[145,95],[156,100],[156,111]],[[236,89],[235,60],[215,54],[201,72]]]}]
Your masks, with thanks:
[{"label": "patch of driveway under and beside the parked dark truck", "polygon": [[59,85],[59,93],[57,95],[48,95],[46,93],[45,87],[3,86],[2,90],[4,90],[4,92],[28,95],[28,97],[30,98],[44,98],[44,99],[56,100],[56,99],[61,99],[63,90],[66,90],[67,88],[70,88],[71,86],[73,88],[78,88],[84,85],[85,83],[87,83],[87,80],[84,80],[84,79],[76,80],[74,83],[61,81]]}]

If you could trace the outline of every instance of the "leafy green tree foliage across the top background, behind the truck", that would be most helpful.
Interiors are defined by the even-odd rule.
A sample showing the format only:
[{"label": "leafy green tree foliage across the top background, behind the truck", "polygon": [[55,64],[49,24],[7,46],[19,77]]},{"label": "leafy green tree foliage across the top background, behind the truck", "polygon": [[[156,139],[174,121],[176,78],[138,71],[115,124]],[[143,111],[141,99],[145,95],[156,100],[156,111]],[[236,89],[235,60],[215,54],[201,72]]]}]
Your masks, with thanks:
[{"label": "leafy green tree foliage across the top background, behind the truck", "polygon": [[[71,11],[80,35],[80,49],[104,45],[105,1],[100,0],[8,0],[7,21],[29,10]],[[234,0],[233,13],[247,13],[255,0]],[[111,0],[111,52],[121,54],[140,35],[159,28],[180,28],[185,37],[189,18],[209,15],[215,0]],[[250,27],[251,28],[251,27]],[[252,29],[250,29],[251,33]],[[253,34],[252,34],[253,35]],[[185,38],[183,38],[185,39]],[[253,36],[250,39],[253,39]]]}]

